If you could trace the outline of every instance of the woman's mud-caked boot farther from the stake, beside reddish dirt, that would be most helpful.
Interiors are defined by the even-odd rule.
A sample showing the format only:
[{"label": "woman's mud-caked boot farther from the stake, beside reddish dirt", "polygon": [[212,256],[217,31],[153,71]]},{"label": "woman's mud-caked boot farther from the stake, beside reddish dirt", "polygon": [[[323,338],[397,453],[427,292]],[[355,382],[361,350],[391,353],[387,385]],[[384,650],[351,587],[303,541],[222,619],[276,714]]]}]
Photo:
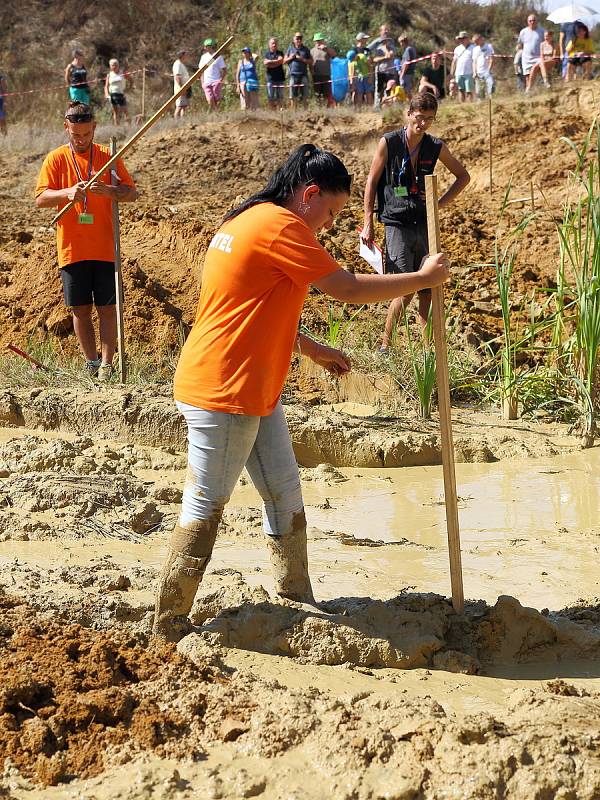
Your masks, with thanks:
[{"label": "woman's mud-caked boot farther from the stake, beside reddish dirt", "polygon": [[178,642],[189,632],[189,614],[198,586],[212,555],[219,520],[194,522],[171,534],[167,561],[156,590],[152,633],[166,642]]}]

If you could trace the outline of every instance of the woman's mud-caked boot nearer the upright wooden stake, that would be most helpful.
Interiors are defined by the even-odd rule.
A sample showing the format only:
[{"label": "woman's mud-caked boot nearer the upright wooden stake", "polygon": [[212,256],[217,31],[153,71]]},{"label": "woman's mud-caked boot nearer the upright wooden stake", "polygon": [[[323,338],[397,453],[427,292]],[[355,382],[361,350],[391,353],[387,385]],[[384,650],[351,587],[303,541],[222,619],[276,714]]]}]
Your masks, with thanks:
[{"label": "woman's mud-caked boot nearer the upright wooden stake", "polygon": [[289,531],[281,536],[267,536],[267,544],[277,594],[297,603],[314,603],[308,574],[304,512],[294,515]]}]

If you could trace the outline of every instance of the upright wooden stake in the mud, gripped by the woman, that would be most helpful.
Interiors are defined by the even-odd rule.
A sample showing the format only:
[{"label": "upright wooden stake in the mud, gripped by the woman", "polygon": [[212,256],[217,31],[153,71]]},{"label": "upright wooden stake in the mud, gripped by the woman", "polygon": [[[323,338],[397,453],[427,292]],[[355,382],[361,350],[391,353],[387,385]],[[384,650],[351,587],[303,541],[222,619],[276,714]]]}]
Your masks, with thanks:
[{"label": "upright wooden stake in the mud, gripped by the woman", "polygon": [[[437,175],[425,177],[427,200],[427,234],[429,252],[439,253],[440,223],[438,218]],[[442,464],[444,470],[444,501],[446,503],[446,527],[448,530],[448,552],[450,555],[450,583],[452,605],[457,614],[464,609],[462,564],[460,557],[460,531],[458,527],[458,503],[456,497],[456,475],[454,471],[454,444],[450,417],[450,382],[448,379],[448,353],[446,350],[446,320],[444,314],[444,290],[436,286],[432,292],[433,339],[435,343],[435,371],[438,388],[438,407],[442,438]]]}]

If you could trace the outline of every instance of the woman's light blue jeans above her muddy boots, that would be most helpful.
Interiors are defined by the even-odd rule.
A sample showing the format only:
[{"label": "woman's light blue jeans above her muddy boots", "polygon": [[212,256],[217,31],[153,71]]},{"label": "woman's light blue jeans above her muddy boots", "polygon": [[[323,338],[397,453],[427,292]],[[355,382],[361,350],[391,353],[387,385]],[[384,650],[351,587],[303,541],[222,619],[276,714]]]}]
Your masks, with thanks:
[{"label": "woman's light blue jeans above her muddy boots", "polygon": [[206,411],[177,403],[188,426],[189,474],[179,524],[214,519],[244,467],[263,500],[263,528],[282,536],[302,511],[298,465],[281,403],[268,417]]}]

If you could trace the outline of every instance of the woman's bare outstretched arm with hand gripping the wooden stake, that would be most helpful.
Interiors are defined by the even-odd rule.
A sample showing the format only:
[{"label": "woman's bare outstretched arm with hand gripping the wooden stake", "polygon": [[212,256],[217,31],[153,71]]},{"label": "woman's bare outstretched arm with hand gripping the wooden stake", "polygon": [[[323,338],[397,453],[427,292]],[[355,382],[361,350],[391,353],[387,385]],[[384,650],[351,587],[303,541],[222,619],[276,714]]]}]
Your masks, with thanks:
[{"label": "woman's bare outstretched arm with hand gripping the wooden stake", "polygon": [[424,258],[417,272],[399,275],[353,275],[340,268],[321,278],[315,286],[330,297],[346,303],[377,303],[440,286],[448,277],[448,260],[443,253],[436,253]]}]

